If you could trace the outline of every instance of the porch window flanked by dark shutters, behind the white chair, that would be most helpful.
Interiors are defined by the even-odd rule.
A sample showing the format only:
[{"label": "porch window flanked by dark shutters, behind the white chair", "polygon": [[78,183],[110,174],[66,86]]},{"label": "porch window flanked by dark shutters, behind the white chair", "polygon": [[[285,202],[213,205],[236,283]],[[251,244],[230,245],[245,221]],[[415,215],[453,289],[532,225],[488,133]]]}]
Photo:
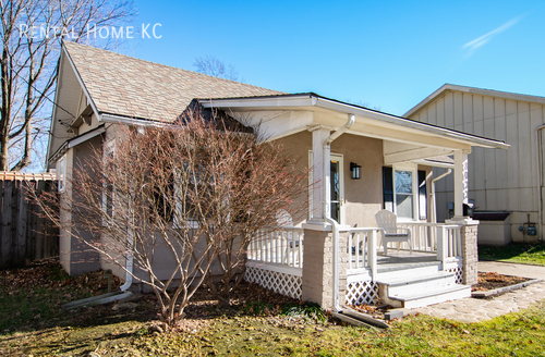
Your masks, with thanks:
[{"label": "porch window flanked by dark shutters, behind the white chair", "polygon": [[426,173],[416,167],[383,168],[384,209],[401,220],[427,218]]}]

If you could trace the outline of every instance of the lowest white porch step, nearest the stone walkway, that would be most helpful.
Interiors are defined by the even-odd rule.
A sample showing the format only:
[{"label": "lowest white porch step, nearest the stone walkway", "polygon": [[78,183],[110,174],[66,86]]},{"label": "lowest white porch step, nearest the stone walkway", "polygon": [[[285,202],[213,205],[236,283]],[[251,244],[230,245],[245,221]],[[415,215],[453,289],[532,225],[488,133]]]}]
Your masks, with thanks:
[{"label": "lowest white porch step, nearest the stone walkway", "polygon": [[447,288],[427,291],[412,295],[398,295],[389,297],[389,299],[391,301],[398,301],[398,304],[392,304],[393,306],[397,305],[398,307],[403,307],[405,309],[414,309],[417,307],[424,307],[464,297],[471,297],[471,286],[456,284],[453,286],[448,286]]}]

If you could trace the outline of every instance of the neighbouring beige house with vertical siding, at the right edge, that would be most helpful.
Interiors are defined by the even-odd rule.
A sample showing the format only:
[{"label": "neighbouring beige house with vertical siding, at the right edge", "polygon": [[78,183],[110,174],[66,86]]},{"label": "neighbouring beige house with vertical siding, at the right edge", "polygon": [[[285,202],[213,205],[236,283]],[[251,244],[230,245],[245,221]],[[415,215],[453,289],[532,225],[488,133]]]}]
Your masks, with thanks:
[{"label": "neighbouring beige house with vertical siding, at the right edge", "polygon": [[[445,84],[404,116],[509,144],[507,151],[475,147],[468,158],[479,242],[543,239],[544,97]],[[436,190],[437,218],[444,221],[453,202],[452,177],[438,181]]]}]

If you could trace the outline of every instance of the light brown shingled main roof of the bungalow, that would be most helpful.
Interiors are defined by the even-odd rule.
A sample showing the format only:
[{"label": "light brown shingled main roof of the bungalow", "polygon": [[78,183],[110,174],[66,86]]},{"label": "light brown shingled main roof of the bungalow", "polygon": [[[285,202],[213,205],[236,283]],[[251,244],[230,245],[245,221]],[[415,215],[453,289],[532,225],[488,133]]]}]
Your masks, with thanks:
[{"label": "light brown shingled main roof of the bungalow", "polygon": [[85,45],[64,48],[99,113],[173,121],[195,98],[283,94]]}]

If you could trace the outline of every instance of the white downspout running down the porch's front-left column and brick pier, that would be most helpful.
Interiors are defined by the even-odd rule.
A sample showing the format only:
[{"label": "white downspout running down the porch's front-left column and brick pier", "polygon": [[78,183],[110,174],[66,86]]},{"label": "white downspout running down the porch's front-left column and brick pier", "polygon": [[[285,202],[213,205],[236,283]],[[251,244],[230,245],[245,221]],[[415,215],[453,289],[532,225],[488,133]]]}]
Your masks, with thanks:
[{"label": "white downspout running down the porch's front-left column and brick pier", "polygon": [[[331,134],[326,141],[324,143],[324,169],[326,162],[330,160],[330,150],[331,150],[331,143],[339,136],[341,136],[346,131],[348,131],[352,125],[354,125],[355,122],[355,115],[354,114],[348,114],[348,122],[340,127],[338,131],[336,131],[334,134]],[[328,223],[331,224],[332,227],[332,238],[334,238],[334,307],[337,311],[341,311],[341,307],[339,305],[339,223],[336,222],[330,218],[330,210],[328,209],[327,205],[327,175],[328,173],[326,170],[324,171],[324,177],[322,182],[324,183],[324,200],[323,200],[323,209],[324,209],[324,220]]]}]

